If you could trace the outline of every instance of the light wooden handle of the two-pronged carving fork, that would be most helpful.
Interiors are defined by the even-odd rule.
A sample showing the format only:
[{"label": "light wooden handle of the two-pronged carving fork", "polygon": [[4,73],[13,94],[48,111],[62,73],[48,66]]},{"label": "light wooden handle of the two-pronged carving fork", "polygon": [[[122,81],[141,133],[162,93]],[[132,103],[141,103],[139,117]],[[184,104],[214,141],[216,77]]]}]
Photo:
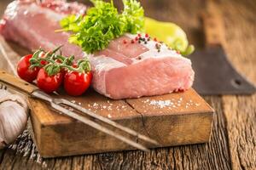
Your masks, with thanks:
[{"label": "light wooden handle of the two-pronged carving fork", "polygon": [[0,83],[3,83],[10,88],[14,88],[15,90],[25,93],[32,94],[34,91],[38,90],[38,87],[32,85],[29,82],[25,82],[18,77],[15,77],[6,71],[0,69]]}]

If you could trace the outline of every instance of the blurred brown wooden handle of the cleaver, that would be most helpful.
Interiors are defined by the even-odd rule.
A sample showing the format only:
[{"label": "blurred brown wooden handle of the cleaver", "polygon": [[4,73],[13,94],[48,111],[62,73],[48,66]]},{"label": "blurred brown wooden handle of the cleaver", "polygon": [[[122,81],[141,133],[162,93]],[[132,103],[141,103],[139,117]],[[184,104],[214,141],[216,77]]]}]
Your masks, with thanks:
[{"label": "blurred brown wooden handle of the cleaver", "polygon": [[202,21],[207,46],[224,45],[224,22],[216,3],[212,0],[207,1]]}]

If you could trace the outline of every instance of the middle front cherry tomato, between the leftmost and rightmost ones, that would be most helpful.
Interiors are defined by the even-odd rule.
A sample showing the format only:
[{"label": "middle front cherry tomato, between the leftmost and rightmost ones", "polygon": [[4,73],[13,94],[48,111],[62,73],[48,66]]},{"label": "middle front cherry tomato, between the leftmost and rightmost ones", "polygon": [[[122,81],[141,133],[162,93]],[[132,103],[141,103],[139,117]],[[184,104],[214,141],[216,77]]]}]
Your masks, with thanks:
[{"label": "middle front cherry tomato, between the leftmost and rightmost ones", "polygon": [[53,93],[61,86],[62,79],[63,76],[61,75],[61,72],[54,76],[49,76],[44,68],[42,68],[38,72],[38,88],[42,89],[47,94]]}]

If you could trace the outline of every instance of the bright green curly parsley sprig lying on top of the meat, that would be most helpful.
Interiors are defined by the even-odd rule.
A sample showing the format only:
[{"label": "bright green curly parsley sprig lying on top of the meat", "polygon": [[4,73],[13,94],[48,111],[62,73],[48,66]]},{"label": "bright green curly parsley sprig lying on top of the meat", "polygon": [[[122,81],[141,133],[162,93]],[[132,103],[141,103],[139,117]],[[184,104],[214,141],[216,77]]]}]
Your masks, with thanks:
[{"label": "bright green curly parsley sprig lying on top of the meat", "polygon": [[61,31],[70,31],[69,42],[79,45],[87,54],[108,47],[111,40],[125,32],[133,34],[143,30],[144,10],[137,0],[123,0],[124,11],[102,0],[90,0],[94,7],[86,15],[69,15],[61,20]]}]

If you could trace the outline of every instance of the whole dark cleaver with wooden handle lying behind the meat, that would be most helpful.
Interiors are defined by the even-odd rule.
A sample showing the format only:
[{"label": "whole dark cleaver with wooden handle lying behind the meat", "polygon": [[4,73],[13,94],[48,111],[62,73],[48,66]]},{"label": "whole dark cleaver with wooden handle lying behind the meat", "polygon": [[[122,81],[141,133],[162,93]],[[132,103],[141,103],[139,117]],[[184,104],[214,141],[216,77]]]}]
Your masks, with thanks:
[{"label": "whole dark cleaver with wooden handle lying behind the meat", "polygon": [[256,88],[230,64],[224,52],[224,26],[216,4],[207,1],[202,15],[206,48],[189,56],[195,70],[193,88],[203,95],[253,94]]}]

